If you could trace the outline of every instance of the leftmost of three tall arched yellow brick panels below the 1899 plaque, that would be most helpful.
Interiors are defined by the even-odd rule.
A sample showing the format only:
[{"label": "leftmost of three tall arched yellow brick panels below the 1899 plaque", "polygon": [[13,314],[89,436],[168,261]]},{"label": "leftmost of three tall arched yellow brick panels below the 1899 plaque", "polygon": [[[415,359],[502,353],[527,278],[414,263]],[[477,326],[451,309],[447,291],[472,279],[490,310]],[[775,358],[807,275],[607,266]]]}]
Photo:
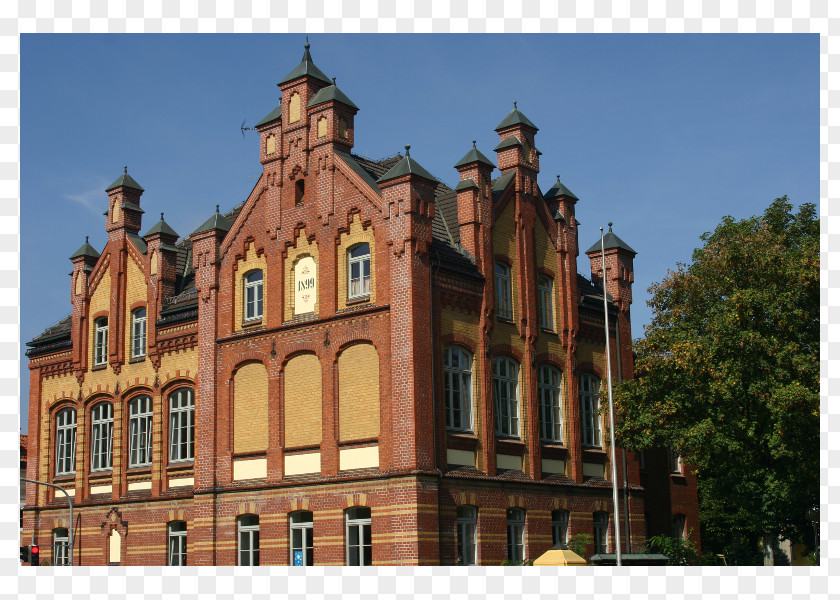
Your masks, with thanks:
[{"label": "leftmost of three tall arched yellow brick panels below the 1899 plaque", "polygon": [[233,451],[268,448],[268,373],[262,363],[249,363],[234,376]]}]

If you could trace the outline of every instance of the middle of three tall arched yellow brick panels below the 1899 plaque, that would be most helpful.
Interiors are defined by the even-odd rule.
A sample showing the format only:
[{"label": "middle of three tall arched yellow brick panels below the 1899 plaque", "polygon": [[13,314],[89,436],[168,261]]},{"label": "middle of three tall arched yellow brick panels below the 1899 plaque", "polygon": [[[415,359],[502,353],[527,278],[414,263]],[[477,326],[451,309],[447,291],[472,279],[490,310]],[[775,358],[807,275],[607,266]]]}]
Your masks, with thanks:
[{"label": "middle of three tall arched yellow brick panels below the 1899 plaque", "polygon": [[289,361],[284,370],[285,446],[321,443],[321,363],[314,354]]}]

